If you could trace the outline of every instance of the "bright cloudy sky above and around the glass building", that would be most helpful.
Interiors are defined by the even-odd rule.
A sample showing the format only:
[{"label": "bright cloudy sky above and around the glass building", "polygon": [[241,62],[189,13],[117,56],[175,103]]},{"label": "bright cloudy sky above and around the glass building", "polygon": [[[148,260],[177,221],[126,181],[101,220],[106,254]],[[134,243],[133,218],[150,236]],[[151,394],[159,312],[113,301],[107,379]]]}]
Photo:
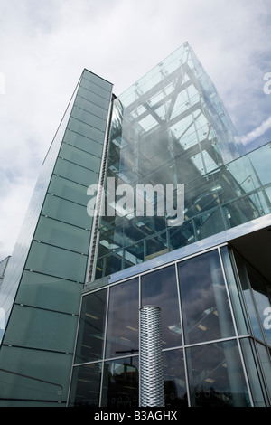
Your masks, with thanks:
[{"label": "bright cloudy sky above and around the glass building", "polygon": [[120,95],[189,42],[247,151],[271,141],[271,0],[0,0],[0,260],[84,68]]}]

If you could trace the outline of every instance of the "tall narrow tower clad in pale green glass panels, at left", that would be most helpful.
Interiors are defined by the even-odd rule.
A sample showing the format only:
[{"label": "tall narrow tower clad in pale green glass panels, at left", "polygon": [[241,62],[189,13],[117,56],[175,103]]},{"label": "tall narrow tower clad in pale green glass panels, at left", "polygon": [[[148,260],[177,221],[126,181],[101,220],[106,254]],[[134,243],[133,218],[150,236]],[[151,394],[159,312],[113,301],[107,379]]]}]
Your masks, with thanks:
[{"label": "tall narrow tower clad in pale green glass panels, at left", "polygon": [[93,226],[87,189],[99,181],[111,97],[112,84],[83,71],[43,162],[0,293],[0,405],[67,401]]}]

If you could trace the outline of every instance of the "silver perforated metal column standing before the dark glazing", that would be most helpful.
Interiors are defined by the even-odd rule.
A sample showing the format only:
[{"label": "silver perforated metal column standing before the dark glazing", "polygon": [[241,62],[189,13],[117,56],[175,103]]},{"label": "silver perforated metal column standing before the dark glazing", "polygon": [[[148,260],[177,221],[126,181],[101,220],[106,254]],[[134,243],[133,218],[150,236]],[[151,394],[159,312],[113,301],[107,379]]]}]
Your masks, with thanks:
[{"label": "silver perforated metal column standing before the dark glazing", "polygon": [[139,406],[164,407],[161,309],[140,308]]}]

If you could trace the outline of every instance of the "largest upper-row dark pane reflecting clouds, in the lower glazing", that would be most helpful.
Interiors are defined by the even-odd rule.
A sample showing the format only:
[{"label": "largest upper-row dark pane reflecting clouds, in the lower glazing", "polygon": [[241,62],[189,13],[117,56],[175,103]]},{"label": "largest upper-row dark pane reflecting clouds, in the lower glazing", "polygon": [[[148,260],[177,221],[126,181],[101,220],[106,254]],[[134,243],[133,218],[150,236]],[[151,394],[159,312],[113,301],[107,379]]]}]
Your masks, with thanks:
[{"label": "largest upper-row dark pane reflecting clouds, in the lower glazing", "polygon": [[182,261],[178,269],[186,343],[234,335],[218,251]]}]

